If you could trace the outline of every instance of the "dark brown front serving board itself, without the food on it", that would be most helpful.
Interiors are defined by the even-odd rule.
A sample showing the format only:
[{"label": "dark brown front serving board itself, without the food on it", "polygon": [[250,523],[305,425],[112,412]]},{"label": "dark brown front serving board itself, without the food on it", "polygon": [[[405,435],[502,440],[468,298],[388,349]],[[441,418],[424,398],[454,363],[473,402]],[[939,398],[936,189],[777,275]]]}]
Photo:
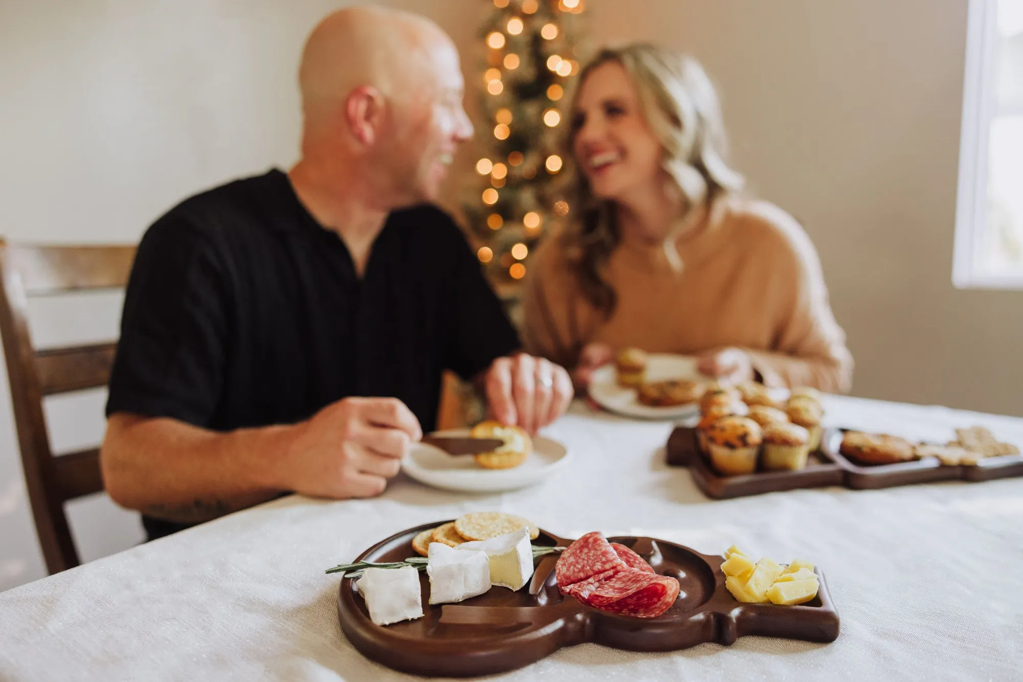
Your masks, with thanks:
[{"label": "dark brown front serving board itself, without the food on it", "polygon": [[[412,538],[443,522],[402,531],[355,560],[396,561],[415,556]],[[341,628],[356,649],[377,663],[414,675],[448,677],[515,670],[563,646],[583,642],[632,651],[668,651],[703,642],[728,645],[745,635],[814,642],[838,637],[838,613],[819,571],[820,589],[806,604],[746,604],[725,589],[720,556],[653,538],[609,540],[631,547],[658,574],[678,579],[681,591],[667,612],[655,619],[631,618],[563,597],[554,581],[554,554],[537,559],[531,584],[518,592],[493,587],[456,604],[431,606],[430,580],[424,572],[419,576],[424,618],[389,626],[369,620],[355,581],[344,578],[338,590]],[[541,531],[534,544],[568,546],[571,542]]]}]

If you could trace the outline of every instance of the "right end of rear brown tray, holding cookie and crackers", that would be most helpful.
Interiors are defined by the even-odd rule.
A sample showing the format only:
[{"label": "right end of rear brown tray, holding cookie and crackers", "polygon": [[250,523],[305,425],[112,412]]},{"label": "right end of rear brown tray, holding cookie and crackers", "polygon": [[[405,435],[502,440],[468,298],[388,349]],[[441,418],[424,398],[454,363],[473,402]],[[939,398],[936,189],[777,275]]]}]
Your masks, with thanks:
[{"label": "right end of rear brown tray, holding cookie and crackers", "polygon": [[1023,475],[1023,455],[983,426],[957,428],[944,444],[914,443],[898,436],[836,431],[824,453],[844,472],[853,489],[891,488],[938,481],[993,481]]}]

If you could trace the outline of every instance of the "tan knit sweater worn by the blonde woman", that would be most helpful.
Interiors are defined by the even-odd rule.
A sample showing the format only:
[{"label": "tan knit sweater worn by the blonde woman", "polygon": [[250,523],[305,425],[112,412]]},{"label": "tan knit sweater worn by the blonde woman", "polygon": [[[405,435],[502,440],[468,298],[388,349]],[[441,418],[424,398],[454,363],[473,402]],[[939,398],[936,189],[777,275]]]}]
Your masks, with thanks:
[{"label": "tan knit sweater worn by the blonde woman", "polygon": [[767,385],[849,390],[852,356],[816,251],[795,219],[764,201],[728,197],[677,247],[681,272],[660,245],[620,244],[604,271],[618,295],[606,318],[582,298],[563,244],[550,239],[525,285],[526,350],[574,367],[590,342],[685,355],[735,346],[750,353]]}]

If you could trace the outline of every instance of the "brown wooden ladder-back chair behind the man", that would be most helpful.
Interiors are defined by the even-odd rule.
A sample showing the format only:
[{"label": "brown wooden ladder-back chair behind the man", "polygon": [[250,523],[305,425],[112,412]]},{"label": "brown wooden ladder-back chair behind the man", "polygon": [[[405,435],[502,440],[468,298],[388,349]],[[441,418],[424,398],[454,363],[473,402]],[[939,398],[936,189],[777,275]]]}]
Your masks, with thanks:
[{"label": "brown wooden ladder-back chair behind the man", "polygon": [[25,481],[50,574],[80,563],[64,502],[101,491],[103,481],[98,449],[53,456],[43,398],[105,385],[117,344],[36,351],[29,333],[28,299],[122,288],[134,258],[134,246],[32,246],[0,239],[0,333]]}]

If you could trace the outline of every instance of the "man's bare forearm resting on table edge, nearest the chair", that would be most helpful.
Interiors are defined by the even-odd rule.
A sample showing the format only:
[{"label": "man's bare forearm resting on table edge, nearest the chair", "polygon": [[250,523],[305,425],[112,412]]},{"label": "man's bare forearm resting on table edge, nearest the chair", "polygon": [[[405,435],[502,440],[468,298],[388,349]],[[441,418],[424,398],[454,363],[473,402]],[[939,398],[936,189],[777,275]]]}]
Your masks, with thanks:
[{"label": "man's bare forearm resting on table edge, nearest the chair", "polygon": [[112,415],[100,452],[103,482],[122,506],[199,522],[286,490],[281,462],[292,426],[220,434],[176,419]]}]

